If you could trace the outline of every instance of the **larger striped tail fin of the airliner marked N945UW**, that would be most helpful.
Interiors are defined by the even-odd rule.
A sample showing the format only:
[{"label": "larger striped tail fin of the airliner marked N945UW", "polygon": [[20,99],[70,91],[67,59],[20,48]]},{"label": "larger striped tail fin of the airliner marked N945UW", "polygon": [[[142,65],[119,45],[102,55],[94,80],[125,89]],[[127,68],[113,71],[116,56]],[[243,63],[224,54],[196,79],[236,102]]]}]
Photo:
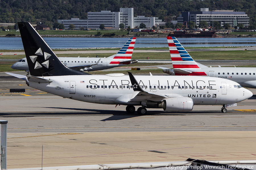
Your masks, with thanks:
[{"label": "larger striped tail fin of the airliner marked N945UW", "polygon": [[206,76],[175,37],[167,37],[175,75]]}]

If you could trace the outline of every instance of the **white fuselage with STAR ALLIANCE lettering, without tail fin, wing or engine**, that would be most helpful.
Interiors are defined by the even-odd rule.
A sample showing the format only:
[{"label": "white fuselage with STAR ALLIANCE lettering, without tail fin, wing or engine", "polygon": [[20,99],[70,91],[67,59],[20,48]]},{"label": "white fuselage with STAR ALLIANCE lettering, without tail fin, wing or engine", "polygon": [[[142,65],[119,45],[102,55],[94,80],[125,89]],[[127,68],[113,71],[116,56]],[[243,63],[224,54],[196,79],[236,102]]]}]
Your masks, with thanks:
[{"label": "white fuselage with STAR ALLIANCE lettering, without tail fin, wing or engine", "polygon": [[[219,78],[204,76],[135,76],[141,88],[153,94],[164,94],[170,97],[189,97],[193,104],[225,105],[243,101],[252,93],[241,88],[238,83]],[[89,103],[141,105],[145,101],[148,108],[161,99],[145,95],[136,96],[133,102],[133,86],[129,76],[125,75],[73,75],[44,76],[50,83],[31,82],[30,87],[59,95],[62,97]],[[238,87],[239,86],[239,87]],[[167,100],[168,97],[167,97]]]}]

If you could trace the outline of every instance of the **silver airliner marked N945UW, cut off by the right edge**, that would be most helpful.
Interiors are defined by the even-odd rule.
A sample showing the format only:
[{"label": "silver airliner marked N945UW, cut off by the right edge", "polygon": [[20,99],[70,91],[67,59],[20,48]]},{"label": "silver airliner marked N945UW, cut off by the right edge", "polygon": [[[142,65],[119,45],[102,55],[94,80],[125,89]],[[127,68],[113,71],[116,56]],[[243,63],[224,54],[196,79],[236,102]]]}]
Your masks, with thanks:
[{"label": "silver airliner marked N945UW, cut off by the right edge", "polygon": [[167,37],[173,69],[158,67],[170,75],[197,75],[229,79],[256,88],[256,67],[207,67],[197,63],[175,37]]}]

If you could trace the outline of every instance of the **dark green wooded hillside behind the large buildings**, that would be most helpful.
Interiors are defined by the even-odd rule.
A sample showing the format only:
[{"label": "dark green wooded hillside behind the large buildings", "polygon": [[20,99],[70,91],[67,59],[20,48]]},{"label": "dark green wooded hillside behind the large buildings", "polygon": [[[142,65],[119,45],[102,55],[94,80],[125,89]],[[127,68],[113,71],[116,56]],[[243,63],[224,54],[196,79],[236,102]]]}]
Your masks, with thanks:
[{"label": "dark green wooded hillside behind the large buildings", "polygon": [[135,16],[154,16],[165,22],[176,20],[181,12],[209,10],[234,10],[245,12],[250,25],[256,25],[255,0],[1,0],[0,22],[31,22],[54,25],[58,19],[87,19],[87,12],[119,8],[134,8]]}]

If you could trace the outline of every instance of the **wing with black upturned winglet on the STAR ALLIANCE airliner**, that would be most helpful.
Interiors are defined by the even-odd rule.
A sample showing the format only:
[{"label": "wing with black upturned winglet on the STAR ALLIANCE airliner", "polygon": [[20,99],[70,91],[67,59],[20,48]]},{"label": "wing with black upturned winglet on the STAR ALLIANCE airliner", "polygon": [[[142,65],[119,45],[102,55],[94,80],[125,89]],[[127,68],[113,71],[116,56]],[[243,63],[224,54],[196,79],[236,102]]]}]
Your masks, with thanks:
[{"label": "wing with black upturned winglet on the STAR ALLIANCE airliner", "polygon": [[179,94],[157,94],[157,93],[151,93],[151,92],[146,92],[144,91],[133,74],[131,72],[128,72],[129,78],[131,80],[131,84],[133,87],[133,95],[131,96],[129,102],[133,101],[143,101],[143,100],[150,100],[150,101],[162,101],[166,98],[171,98],[171,97],[183,97],[182,95]]}]

